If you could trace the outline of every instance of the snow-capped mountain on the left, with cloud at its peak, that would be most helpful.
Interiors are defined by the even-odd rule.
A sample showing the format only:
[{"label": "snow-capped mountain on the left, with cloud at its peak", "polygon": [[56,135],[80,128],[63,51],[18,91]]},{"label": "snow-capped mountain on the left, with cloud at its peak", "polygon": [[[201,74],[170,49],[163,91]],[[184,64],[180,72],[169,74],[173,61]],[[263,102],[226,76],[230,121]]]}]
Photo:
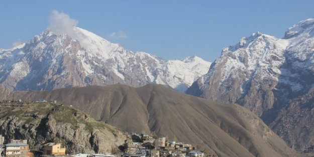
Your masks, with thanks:
[{"label": "snow-capped mountain on the left, with cloud at its peak", "polygon": [[14,90],[51,90],[72,86],[149,83],[184,92],[211,62],[196,56],[163,60],[144,52],[125,50],[84,29],[75,36],[46,30],[34,39],[0,51],[0,84]]}]

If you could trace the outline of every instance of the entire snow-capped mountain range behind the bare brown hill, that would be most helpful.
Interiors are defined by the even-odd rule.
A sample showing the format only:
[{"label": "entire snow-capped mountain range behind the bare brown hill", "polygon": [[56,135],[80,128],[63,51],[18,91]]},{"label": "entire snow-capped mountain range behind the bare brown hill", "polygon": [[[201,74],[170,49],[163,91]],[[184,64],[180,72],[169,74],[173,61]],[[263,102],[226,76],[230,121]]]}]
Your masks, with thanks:
[{"label": "entire snow-capped mountain range behind the bare brown hill", "polygon": [[[311,18],[288,28],[282,39],[254,33],[242,38],[235,46],[224,48],[221,57],[213,64],[196,56],[166,61],[148,53],[128,51],[119,44],[77,27],[73,28],[75,36],[56,35],[46,30],[17,47],[0,49],[0,84],[15,91],[110,84],[132,87],[162,84],[215,102],[231,103],[230,106],[240,104],[259,116],[289,146],[308,152],[314,149],[313,30],[314,19]],[[84,91],[88,92],[92,93],[92,90]],[[118,101],[124,94],[116,93]],[[75,96],[78,93],[69,94],[86,101]],[[65,93],[65,96],[68,95]],[[101,99],[89,96],[86,99],[90,102]],[[126,101],[125,96],[121,98],[122,102]],[[179,99],[182,98],[168,101],[175,104]],[[103,105],[100,100],[96,102]],[[135,115],[146,115],[143,109],[147,106],[137,108],[139,110],[134,111]],[[88,109],[82,110],[88,112]],[[88,114],[95,113],[89,111]],[[119,127],[123,127],[119,122],[127,120],[114,115],[115,118],[111,119],[106,115],[95,118]],[[154,121],[150,118],[140,123],[146,120]],[[146,131],[157,129],[150,125],[142,128]],[[249,152],[252,153],[250,148]]]}]

